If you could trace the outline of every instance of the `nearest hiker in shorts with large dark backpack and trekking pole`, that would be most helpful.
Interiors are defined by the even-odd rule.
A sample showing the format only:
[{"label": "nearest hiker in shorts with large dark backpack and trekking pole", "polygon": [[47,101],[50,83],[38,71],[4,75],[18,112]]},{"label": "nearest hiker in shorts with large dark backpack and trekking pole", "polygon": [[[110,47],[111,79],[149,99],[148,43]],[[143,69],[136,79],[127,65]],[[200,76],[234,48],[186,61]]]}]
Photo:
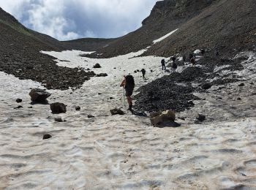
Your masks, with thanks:
[{"label": "nearest hiker in shorts with large dark backpack and trekking pole", "polygon": [[125,89],[125,96],[127,96],[127,102],[129,104],[128,110],[132,112],[132,92],[135,88],[135,80],[132,75],[124,75],[124,80],[121,82],[121,87]]}]

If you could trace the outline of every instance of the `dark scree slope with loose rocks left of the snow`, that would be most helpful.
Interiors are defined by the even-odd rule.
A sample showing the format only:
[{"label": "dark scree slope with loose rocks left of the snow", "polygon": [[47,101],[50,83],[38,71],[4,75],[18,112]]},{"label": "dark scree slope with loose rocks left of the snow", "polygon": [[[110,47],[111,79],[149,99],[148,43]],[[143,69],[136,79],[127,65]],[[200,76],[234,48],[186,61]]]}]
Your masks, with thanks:
[{"label": "dark scree slope with loose rocks left of the snow", "polygon": [[[78,48],[92,50],[98,44],[104,46],[112,39],[84,39]],[[91,42],[92,41],[92,42]],[[86,42],[89,42],[86,44]],[[91,48],[90,45],[94,44]],[[59,42],[57,39],[32,31],[0,8],[0,70],[20,79],[31,79],[47,88],[77,88],[94,75],[83,69],[57,66],[53,57],[41,50],[77,49],[77,42]],[[65,60],[63,60],[65,61]]]}]

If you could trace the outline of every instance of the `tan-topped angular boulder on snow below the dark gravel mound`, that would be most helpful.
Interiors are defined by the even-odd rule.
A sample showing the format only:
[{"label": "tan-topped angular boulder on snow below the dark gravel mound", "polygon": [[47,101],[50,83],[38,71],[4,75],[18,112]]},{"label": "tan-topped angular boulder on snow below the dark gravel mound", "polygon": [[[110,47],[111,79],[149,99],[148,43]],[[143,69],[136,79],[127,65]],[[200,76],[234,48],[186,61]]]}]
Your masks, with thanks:
[{"label": "tan-topped angular boulder on snow below the dark gravel mound", "polygon": [[151,124],[157,126],[159,123],[163,123],[165,121],[174,121],[176,118],[175,112],[173,110],[159,111],[157,113],[150,114]]}]

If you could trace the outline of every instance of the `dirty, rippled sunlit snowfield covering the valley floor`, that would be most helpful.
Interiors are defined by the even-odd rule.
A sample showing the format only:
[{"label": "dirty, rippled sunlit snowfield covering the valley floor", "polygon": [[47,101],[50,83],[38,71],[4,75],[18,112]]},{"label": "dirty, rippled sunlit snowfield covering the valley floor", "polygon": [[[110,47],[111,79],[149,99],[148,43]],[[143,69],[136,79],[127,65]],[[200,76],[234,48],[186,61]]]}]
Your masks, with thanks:
[{"label": "dirty, rippled sunlit snowfield covering the valley floor", "polygon": [[[136,89],[168,74],[161,70],[162,57],[135,58],[143,51],[106,59],[80,57],[83,52],[75,50],[48,52],[59,66],[108,74],[92,77],[76,91],[50,90],[49,103],[67,104],[67,113],[60,115],[50,113],[48,104],[30,104],[30,88],[43,88],[39,83],[0,72],[0,189],[255,189],[255,88],[230,84],[219,100],[218,87],[212,87],[197,94],[201,100],[191,110],[177,113],[187,117],[177,119],[181,127],[154,128],[148,118],[127,112],[119,87],[128,73]],[[242,63],[246,69],[237,75],[255,81],[255,60],[249,53]],[[102,68],[93,69],[96,63]],[[134,72],[142,68],[146,81]],[[242,100],[233,101],[238,96]],[[15,110],[17,98],[23,108]],[[110,115],[114,107],[127,114]],[[208,122],[195,124],[202,112]],[[66,122],[54,121],[59,116]],[[42,140],[43,134],[53,137]]]}]

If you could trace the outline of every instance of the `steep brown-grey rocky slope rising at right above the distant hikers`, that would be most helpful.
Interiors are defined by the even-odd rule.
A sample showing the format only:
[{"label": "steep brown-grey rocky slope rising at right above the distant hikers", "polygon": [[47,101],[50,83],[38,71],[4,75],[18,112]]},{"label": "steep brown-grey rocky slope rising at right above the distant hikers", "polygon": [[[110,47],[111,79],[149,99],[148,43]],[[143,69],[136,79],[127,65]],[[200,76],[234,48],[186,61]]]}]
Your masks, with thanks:
[{"label": "steep brown-grey rocky slope rising at right above the distant hikers", "polygon": [[[255,44],[255,9],[254,0],[158,1],[141,28],[102,48],[98,54],[112,57],[151,46],[144,55],[171,56],[202,47],[217,47],[233,55],[233,49],[249,50]],[[153,45],[154,39],[176,28],[176,34]]]}]

